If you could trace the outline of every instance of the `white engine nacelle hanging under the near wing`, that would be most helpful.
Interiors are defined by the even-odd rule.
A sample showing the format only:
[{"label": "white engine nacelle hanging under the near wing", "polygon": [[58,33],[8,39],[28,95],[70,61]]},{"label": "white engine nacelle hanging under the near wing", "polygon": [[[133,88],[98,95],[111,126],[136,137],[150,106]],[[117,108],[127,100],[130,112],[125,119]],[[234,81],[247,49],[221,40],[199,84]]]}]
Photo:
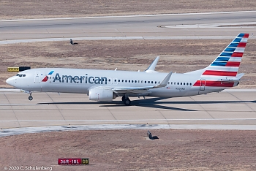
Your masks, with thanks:
[{"label": "white engine nacelle hanging under the near wing", "polygon": [[111,102],[116,99],[116,94],[112,90],[106,88],[91,88],[89,90],[89,100],[99,102]]}]

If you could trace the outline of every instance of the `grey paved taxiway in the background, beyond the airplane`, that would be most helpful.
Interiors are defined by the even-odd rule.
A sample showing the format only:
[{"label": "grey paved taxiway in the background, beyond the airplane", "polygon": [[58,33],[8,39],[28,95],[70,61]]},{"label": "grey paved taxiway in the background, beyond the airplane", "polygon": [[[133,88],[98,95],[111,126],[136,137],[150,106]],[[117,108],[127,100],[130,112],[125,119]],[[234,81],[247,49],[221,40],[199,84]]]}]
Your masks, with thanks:
[{"label": "grey paved taxiway in the background, beyond the airplane", "polygon": [[[255,22],[255,16],[256,11],[0,20],[0,44],[17,39],[78,37],[234,37],[240,32],[256,34],[255,23],[243,26]],[[227,23],[236,23],[238,26],[219,27]]]}]

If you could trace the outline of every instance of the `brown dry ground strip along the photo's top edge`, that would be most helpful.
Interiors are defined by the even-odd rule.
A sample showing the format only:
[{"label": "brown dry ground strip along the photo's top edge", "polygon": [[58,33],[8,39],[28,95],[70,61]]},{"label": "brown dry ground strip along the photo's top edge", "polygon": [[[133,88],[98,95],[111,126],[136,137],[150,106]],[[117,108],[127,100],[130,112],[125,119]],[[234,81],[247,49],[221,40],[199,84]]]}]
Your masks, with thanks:
[{"label": "brown dry ground strip along the photo's top edge", "polygon": [[249,11],[255,9],[256,3],[253,0],[5,0],[0,1],[0,20]]}]

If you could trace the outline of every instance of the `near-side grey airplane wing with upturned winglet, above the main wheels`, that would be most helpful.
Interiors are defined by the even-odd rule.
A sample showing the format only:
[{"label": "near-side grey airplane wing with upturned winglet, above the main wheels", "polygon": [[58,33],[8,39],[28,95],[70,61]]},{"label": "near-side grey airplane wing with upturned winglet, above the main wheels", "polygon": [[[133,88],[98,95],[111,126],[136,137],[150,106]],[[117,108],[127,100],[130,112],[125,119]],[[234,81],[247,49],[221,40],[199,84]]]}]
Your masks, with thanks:
[{"label": "near-side grey airplane wing with upturned winglet, above the main wheels", "polygon": [[173,74],[173,72],[170,72],[164,80],[162,80],[161,83],[159,83],[159,85],[157,86],[145,86],[145,87],[116,87],[116,88],[112,88],[112,91],[115,92],[116,94],[148,94],[150,93],[150,91],[148,91],[149,89],[152,88],[162,88],[167,86],[168,81],[170,80],[171,75]]}]

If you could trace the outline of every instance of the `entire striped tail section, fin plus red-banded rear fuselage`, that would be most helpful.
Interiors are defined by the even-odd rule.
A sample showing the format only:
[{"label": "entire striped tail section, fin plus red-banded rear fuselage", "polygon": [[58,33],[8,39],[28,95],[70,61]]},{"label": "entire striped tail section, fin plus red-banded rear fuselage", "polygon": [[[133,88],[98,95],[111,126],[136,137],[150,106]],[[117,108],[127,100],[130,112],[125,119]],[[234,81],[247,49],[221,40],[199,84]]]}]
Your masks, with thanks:
[{"label": "entire striped tail section, fin plus red-banded rear fuselage", "polygon": [[238,34],[222,53],[206,68],[187,74],[198,75],[193,86],[225,89],[237,86],[244,74],[238,74],[249,34]]}]

